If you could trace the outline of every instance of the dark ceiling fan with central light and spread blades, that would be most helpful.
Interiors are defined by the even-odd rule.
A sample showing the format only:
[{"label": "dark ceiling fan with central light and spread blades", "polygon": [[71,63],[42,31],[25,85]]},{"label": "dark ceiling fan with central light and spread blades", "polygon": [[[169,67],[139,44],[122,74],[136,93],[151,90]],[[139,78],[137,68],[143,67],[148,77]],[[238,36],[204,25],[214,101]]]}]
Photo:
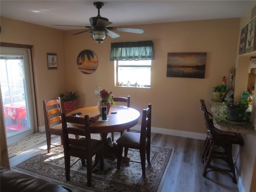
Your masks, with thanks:
[{"label": "dark ceiling fan with central light and spread blades", "polygon": [[120,35],[113,32],[114,31],[122,31],[122,32],[130,32],[130,33],[138,33],[142,34],[144,32],[143,29],[136,29],[136,28],[121,28],[121,27],[106,27],[112,22],[108,21],[108,18],[104,18],[100,16],[100,9],[104,6],[102,2],[94,2],[93,5],[98,9],[98,15],[96,17],[91,17],[90,24],[91,26],[74,26],[74,25],[54,25],[54,26],[74,26],[74,27],[85,27],[90,28],[89,30],[84,30],[72,35],[78,35],[84,32],[89,31],[92,35],[92,39],[95,40],[97,43],[103,43],[103,40],[110,36],[111,38],[118,38]]}]

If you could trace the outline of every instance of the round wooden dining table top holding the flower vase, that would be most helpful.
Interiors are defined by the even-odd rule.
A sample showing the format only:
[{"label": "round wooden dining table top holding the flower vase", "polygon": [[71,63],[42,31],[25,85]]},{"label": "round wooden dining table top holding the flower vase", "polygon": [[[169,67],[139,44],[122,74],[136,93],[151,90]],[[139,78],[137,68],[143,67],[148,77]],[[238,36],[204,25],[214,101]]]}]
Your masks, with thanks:
[{"label": "round wooden dining table top holding the flower vase", "polygon": [[71,111],[66,115],[69,116],[70,114],[76,112],[82,113],[79,115],[80,117],[89,115],[89,118],[95,118],[97,122],[90,124],[92,133],[121,132],[135,126],[138,123],[138,119],[140,118],[140,112],[138,112],[138,110],[124,106],[111,106],[108,114],[108,120],[106,121],[99,120],[101,116],[97,106],[80,108]]}]

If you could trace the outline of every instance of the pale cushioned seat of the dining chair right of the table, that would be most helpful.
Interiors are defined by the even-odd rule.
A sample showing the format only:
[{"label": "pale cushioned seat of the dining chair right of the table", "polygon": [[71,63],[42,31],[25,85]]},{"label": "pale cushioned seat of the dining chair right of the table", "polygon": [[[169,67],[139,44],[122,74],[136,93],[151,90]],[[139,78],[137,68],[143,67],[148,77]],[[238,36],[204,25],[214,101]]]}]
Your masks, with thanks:
[{"label": "pale cushioned seat of the dining chair right of the table", "polygon": [[[117,144],[121,144],[122,146],[130,146],[130,148],[140,148],[140,133],[135,132],[124,132],[122,136],[116,140]],[[147,138],[146,138],[147,142]]]}]

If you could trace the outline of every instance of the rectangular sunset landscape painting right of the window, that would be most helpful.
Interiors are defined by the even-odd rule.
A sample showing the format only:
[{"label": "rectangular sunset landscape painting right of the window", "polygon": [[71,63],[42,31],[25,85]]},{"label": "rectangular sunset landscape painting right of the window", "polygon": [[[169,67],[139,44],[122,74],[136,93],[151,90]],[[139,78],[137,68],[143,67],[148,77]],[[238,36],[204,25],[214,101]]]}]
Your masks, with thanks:
[{"label": "rectangular sunset landscape painting right of the window", "polygon": [[204,78],[206,53],[168,53],[167,77]]}]

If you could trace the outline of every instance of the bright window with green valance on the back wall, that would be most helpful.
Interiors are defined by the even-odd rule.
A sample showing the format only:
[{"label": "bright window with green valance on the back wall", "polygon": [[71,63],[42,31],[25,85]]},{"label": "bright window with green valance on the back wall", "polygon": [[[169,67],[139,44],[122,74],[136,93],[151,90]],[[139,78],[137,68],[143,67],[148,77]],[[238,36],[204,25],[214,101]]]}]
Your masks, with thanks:
[{"label": "bright window with green valance on the back wall", "polygon": [[150,88],[153,42],[111,43],[110,61],[115,61],[116,86]]}]

